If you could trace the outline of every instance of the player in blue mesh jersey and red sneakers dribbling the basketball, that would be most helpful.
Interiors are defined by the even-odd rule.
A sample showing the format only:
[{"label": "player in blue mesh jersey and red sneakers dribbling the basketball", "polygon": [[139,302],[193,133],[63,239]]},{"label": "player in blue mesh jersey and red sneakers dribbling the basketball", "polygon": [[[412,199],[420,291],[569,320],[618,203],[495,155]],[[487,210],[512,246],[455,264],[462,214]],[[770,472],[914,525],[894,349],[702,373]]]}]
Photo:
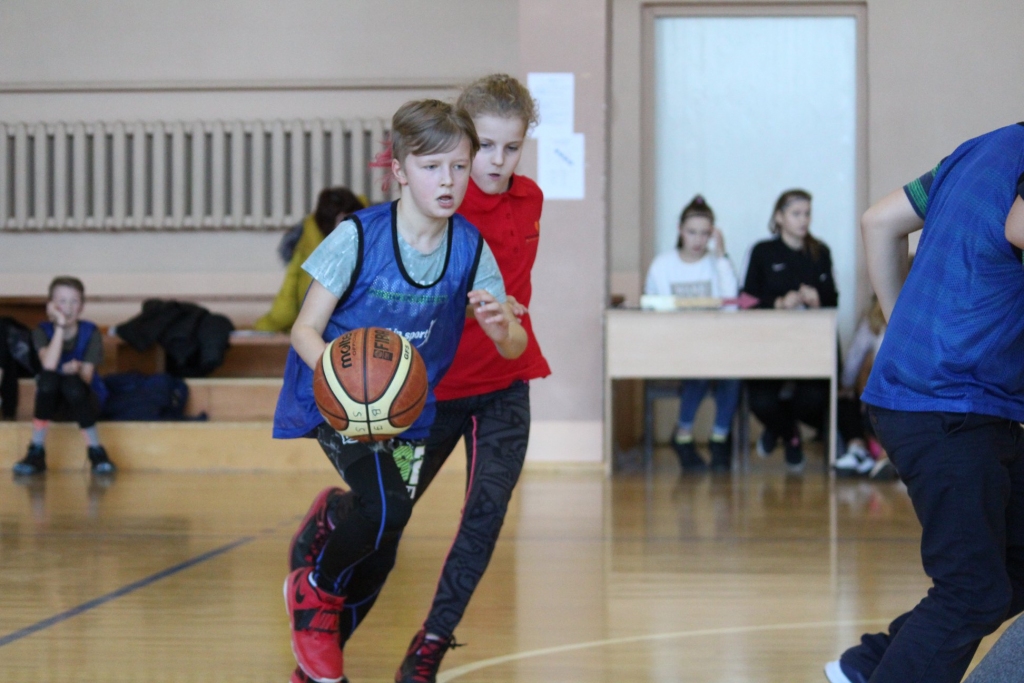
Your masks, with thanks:
[{"label": "player in blue mesh jersey and red sneakers dribbling the basketball", "polygon": [[[292,349],[274,414],[279,438],[315,436],[353,493],[311,566],[292,571],[285,601],[293,680],[344,678],[339,616],[353,567],[401,533],[412,501],[396,452],[422,449],[434,414],[433,387],[444,375],[462,333],[467,303],[505,357],[526,345],[504,303],[494,255],[479,232],[455,215],[479,141],[472,119],[438,100],[402,105],[391,124],[392,173],[398,201],[356,212],[313,252],[303,268],[313,282],[292,328]],[[400,439],[379,450],[329,427],[312,394],[312,368],[328,341],[357,328],[395,330],[427,367],[427,404]],[[403,454],[402,458],[408,454]]]}]

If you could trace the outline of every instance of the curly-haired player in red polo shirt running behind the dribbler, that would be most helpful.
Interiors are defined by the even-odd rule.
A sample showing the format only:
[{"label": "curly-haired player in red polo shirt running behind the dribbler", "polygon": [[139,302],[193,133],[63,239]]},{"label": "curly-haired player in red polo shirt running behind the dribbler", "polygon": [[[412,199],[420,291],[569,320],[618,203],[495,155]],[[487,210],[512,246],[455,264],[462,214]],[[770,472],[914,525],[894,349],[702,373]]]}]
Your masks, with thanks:
[{"label": "curly-haired player in red polo shirt running behind the dribbler", "polygon": [[526,130],[537,123],[534,99],[519,81],[502,74],[467,87],[456,106],[473,118],[480,138],[459,212],[487,241],[529,341],[521,356],[506,360],[495,352],[479,325],[467,319],[452,369],[434,391],[437,417],[415,498],[422,496],[449,454],[465,438],[466,501],[430,613],[395,674],[398,683],[433,681],[441,657],[455,643],[453,633],[490,560],[526,457],[528,382],[551,374],[526,308],[532,294],[529,276],[537,258],[544,195],[536,182],[515,175]]}]

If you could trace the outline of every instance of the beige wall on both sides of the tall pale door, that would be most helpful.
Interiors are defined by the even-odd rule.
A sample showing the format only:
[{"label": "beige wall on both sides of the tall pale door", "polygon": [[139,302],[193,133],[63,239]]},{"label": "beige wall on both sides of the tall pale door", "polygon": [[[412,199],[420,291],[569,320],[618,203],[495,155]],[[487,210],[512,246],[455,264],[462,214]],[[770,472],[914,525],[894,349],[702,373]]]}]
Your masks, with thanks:
[{"label": "beige wall on both sides of the tall pale door", "polygon": [[[614,292],[636,296],[647,267],[641,226],[642,0],[612,0],[609,201]],[[709,3],[660,2],[702,7]],[[773,3],[724,2],[771,12]],[[778,3],[774,3],[778,6]],[[842,2],[787,2],[805,5]],[[866,201],[934,166],[963,140],[1024,119],[1019,3],[867,0]],[[792,11],[792,9],[791,9]],[[859,268],[862,271],[862,268]],[[860,297],[866,287],[861,288]]]}]

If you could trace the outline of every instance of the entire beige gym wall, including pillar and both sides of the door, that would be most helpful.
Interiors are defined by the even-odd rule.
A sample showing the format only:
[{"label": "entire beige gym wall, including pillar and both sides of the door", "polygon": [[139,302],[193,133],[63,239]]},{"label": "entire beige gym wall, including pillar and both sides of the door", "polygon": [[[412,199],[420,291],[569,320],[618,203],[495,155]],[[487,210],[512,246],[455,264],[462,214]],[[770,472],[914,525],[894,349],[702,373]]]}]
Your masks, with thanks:
[{"label": "entire beige gym wall, including pillar and both sides of the door", "polygon": [[[624,283],[637,287],[646,266],[638,226],[642,6],[7,0],[0,3],[0,120],[388,116],[404,99],[450,96],[492,71],[523,78],[574,72],[587,198],[545,205],[532,315],[555,374],[534,387],[531,457],[594,461],[605,295]],[[867,199],[968,136],[1024,119],[1018,13],[1009,0],[866,3]],[[535,159],[527,147],[528,174]],[[0,293],[38,292],[58,270],[82,272],[110,293],[133,286],[271,293],[281,276],[275,241],[0,233]]]}]

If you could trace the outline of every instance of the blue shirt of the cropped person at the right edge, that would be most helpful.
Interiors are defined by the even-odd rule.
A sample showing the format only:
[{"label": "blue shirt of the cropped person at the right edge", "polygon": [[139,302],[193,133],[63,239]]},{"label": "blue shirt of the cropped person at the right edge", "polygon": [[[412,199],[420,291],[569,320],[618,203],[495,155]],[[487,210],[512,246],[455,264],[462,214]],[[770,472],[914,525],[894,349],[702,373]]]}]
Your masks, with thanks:
[{"label": "blue shirt of the cropped person at the right edge", "polygon": [[1024,268],[1005,237],[1022,175],[1019,124],[962,144],[939,165],[927,202],[911,199],[925,227],[865,402],[1024,422]]}]

